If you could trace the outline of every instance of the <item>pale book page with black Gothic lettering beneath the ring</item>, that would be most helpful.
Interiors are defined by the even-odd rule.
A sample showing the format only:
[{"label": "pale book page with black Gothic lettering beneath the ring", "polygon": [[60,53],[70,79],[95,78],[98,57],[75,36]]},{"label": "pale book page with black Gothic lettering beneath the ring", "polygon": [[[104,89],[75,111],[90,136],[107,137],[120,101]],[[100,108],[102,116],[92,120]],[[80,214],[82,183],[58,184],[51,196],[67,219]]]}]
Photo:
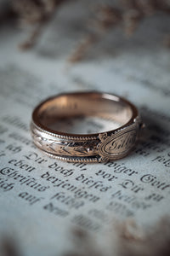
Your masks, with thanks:
[{"label": "pale book page with black Gothic lettering beneath the ring", "polygon": [[[74,7],[82,10],[79,3]],[[0,31],[0,236],[14,239],[22,255],[65,255],[74,249],[75,227],[101,239],[114,221],[132,218],[150,227],[170,211],[170,51],[161,44],[167,26],[158,15],[144,21],[132,38],[113,30],[72,64],[68,56],[82,38],[77,26],[86,9],[74,12],[65,5],[28,51],[17,47],[26,32],[13,25]],[[64,13],[70,16],[65,19]],[[84,90],[124,96],[139,108],[146,127],[126,158],[67,163],[32,143],[31,113],[37,104]],[[93,133],[111,123],[81,119],[64,125]]]}]

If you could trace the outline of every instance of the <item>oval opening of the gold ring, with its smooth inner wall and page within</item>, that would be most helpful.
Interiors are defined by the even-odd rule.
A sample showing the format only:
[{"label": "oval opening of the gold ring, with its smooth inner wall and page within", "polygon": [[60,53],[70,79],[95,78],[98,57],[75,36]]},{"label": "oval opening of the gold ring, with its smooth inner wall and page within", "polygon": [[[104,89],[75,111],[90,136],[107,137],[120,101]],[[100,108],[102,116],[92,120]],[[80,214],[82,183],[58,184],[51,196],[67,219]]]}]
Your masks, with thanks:
[{"label": "oval opening of the gold ring, with its smooth inner wall and page within", "polygon": [[115,130],[132,116],[133,109],[127,102],[99,94],[57,96],[37,111],[39,123],[47,129],[73,134]]}]

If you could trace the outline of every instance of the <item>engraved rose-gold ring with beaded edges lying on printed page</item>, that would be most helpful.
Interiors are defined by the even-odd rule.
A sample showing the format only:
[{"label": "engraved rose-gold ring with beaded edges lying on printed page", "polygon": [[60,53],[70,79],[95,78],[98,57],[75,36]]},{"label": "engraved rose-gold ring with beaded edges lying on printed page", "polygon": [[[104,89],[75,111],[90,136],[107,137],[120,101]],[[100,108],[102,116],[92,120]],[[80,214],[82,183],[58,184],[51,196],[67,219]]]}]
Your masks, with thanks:
[{"label": "engraved rose-gold ring with beaded edges lying on printed page", "polygon": [[[75,134],[51,128],[54,121],[98,117],[119,124],[110,131]],[[141,120],[137,108],[122,97],[100,92],[74,92],[50,97],[32,113],[33,142],[46,154],[71,162],[118,160],[132,150]]]}]

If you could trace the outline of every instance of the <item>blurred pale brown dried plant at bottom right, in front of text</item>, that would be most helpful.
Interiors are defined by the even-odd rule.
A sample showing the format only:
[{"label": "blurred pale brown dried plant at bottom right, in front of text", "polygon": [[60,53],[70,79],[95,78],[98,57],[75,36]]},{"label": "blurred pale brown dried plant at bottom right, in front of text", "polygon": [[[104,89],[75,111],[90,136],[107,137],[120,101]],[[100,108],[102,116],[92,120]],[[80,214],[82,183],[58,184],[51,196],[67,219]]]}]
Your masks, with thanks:
[{"label": "blurred pale brown dried plant at bottom right, in front of text", "polygon": [[[88,231],[74,230],[78,245],[73,253],[65,256],[168,256],[170,255],[170,219],[162,218],[150,230],[142,229],[133,220],[113,225],[105,234],[103,243]],[[105,251],[106,248],[106,251]]]}]

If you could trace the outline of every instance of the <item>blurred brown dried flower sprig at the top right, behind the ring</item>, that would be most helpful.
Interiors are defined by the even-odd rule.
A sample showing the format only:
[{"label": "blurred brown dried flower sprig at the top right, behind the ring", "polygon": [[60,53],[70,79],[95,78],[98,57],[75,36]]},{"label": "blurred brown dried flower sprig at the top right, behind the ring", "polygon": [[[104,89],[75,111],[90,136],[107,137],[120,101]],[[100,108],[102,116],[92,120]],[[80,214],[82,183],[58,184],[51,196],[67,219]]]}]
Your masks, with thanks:
[{"label": "blurred brown dried flower sprig at the top right, behind the ring", "polygon": [[[104,32],[115,26],[122,26],[127,37],[129,37],[137,29],[140,22],[148,16],[156,15],[160,11],[170,15],[169,0],[119,0],[118,3],[119,5],[116,8],[111,5],[102,5],[96,9],[94,20],[92,21],[92,24],[99,29],[99,31],[96,30],[96,38],[101,38]],[[164,42],[169,47],[169,36],[166,37]],[[83,44],[80,42],[69,60],[75,62],[83,59],[92,43],[94,41],[91,44],[86,44],[83,48]],[[81,58],[77,58],[77,56],[80,56],[80,49]]]}]

